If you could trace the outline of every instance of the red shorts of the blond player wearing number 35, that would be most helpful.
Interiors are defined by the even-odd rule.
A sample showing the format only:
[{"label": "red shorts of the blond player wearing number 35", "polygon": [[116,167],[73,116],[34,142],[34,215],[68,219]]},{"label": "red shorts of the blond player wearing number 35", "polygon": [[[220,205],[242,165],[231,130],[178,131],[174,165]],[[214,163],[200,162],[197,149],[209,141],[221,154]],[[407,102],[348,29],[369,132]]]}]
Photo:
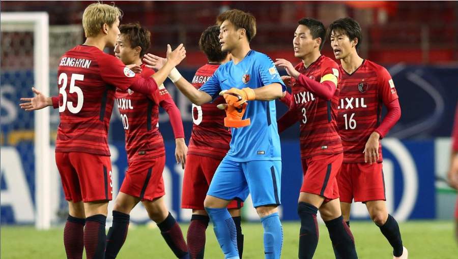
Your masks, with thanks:
[{"label": "red shorts of the blond player wearing number 35", "polygon": [[111,200],[113,183],[109,156],[82,152],[55,152],[65,200],[74,203]]}]

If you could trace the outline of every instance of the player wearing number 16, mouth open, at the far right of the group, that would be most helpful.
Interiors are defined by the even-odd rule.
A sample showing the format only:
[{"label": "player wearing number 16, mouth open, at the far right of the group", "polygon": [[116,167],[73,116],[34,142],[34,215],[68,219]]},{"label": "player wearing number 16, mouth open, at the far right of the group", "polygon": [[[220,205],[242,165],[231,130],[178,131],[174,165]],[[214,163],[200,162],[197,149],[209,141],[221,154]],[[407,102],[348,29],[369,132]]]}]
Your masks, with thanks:
[{"label": "player wearing number 16, mouth open, at the far right of the group", "polygon": [[[362,34],[358,22],[338,19],[328,28],[328,37],[340,60],[337,122],[344,146],[338,176],[342,214],[349,224],[352,200],[365,203],[370,218],[393,247],[394,258],[407,258],[399,226],[385,205],[380,142],[400,117],[396,88],[385,68],[359,57]],[[388,109],[383,120],[382,105]]]}]

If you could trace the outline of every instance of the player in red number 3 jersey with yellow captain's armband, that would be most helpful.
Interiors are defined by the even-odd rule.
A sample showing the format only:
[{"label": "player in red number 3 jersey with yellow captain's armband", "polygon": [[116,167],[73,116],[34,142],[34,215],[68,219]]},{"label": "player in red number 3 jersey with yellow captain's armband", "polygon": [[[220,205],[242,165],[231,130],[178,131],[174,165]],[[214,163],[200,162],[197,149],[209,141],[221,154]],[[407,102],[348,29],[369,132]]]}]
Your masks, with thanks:
[{"label": "player in red number 3 jersey with yellow captain's armband", "polygon": [[338,65],[320,53],[326,39],[323,23],[313,18],[298,23],[293,47],[302,61],[296,67],[285,59],[275,64],[287,71],[289,77],[283,79],[293,89],[290,109],[277,121],[278,131],[300,121],[304,181],[298,204],[299,258],[312,258],[317,248],[318,210],[334,249],[342,258],[357,258],[353,235],[341,215],[336,179],[343,158],[337,128]]}]

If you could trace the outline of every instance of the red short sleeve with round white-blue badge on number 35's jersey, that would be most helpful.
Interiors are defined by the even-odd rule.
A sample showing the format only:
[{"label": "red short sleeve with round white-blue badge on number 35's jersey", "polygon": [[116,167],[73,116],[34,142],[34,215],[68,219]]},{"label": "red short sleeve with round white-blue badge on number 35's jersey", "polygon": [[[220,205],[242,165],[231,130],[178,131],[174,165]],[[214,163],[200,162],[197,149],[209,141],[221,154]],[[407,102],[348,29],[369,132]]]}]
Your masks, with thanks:
[{"label": "red short sleeve with round white-blue badge on number 35's jersey", "polygon": [[132,70],[114,56],[104,54],[99,58],[98,62],[102,80],[123,91],[126,91],[138,79]]}]

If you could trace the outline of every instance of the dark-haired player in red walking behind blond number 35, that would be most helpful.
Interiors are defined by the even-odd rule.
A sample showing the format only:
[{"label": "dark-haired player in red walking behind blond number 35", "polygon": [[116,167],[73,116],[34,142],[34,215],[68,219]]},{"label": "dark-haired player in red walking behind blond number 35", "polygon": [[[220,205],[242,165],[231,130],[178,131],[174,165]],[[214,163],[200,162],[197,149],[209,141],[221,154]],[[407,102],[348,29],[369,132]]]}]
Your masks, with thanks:
[{"label": "dark-haired player in red walking behind blond number 35", "polygon": [[[120,26],[115,56],[125,64],[136,64],[141,77],[155,72],[146,68],[141,58],[150,47],[151,33],[138,23]],[[130,89],[117,89],[116,100],[126,134],[128,169],[113,207],[113,224],[108,231],[105,258],[115,258],[127,237],[130,212],[142,202],[170,249],[178,258],[188,258],[188,249],[181,228],[164,204],[162,172],[165,148],[159,132],[159,106],[164,108],[176,138],[177,163],[185,166],[187,147],[184,141],[180,111],[163,85],[153,94],[145,95]]]}]

